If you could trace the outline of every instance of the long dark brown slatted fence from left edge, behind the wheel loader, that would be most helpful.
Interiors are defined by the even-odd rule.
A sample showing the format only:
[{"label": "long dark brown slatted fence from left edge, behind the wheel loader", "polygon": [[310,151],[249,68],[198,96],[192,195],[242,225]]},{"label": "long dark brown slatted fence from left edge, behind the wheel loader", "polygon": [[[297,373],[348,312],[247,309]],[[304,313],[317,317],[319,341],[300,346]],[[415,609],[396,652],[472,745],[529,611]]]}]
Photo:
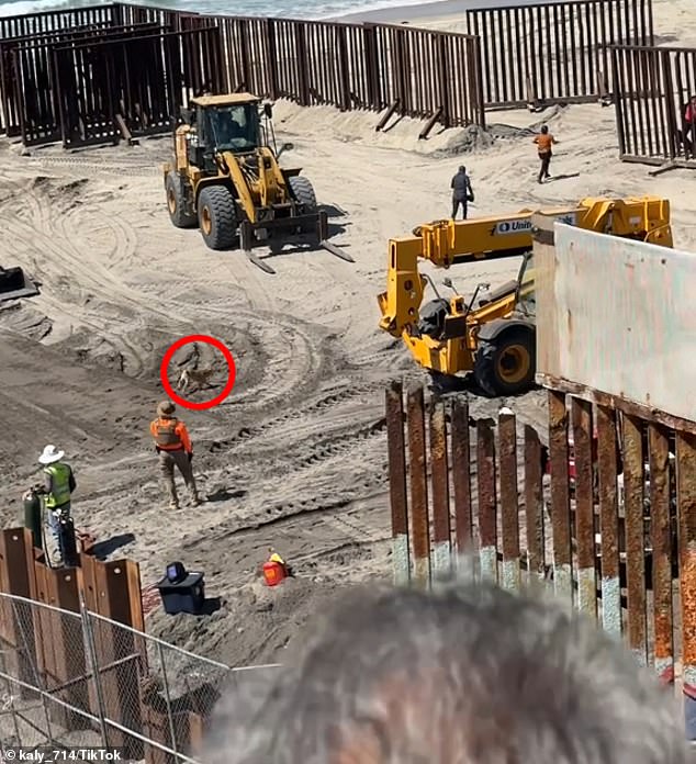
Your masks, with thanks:
[{"label": "long dark brown slatted fence from left edge, behind the wheel loader", "polygon": [[[203,89],[341,110],[389,108],[430,127],[485,124],[480,43],[470,35],[122,3],[4,19],[0,35],[2,127],[26,145],[59,138],[67,148],[170,130]],[[130,60],[153,64],[148,83],[138,83]],[[172,87],[177,77],[183,82]]]}]

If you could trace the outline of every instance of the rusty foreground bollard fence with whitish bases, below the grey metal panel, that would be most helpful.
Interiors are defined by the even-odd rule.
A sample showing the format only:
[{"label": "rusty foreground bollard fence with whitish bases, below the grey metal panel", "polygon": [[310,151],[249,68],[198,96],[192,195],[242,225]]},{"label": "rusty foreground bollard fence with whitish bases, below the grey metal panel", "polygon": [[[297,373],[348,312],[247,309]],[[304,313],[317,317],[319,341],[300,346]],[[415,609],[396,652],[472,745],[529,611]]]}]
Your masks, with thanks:
[{"label": "rusty foreground bollard fence with whitish bases, below the grey metal panel", "polygon": [[474,422],[461,396],[388,387],[395,582],[428,587],[463,560],[552,587],[681,683],[695,740],[696,425],[551,389],[548,407],[541,434],[510,409]]}]

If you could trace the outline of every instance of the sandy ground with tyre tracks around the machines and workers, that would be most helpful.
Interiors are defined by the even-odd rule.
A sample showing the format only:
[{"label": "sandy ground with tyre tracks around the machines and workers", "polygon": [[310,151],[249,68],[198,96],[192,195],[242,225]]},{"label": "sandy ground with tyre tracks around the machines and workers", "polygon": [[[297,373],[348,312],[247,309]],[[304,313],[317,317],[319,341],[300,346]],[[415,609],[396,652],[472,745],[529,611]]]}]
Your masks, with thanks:
[{"label": "sandy ground with tyre tracks around the machines and workers", "polygon": [[[437,7],[435,15],[426,12],[435,5],[419,5],[392,20],[463,25],[463,2]],[[658,34],[696,37],[688,0],[658,0],[654,15]],[[485,133],[436,128],[427,141],[408,119],[375,133],[374,113],[278,102],[274,114],[279,138],[294,146],[282,162],[313,181],[334,243],[355,263],[287,246],[269,260],[270,276],[240,252],[206,249],[197,231],[173,228],[160,171],[170,137],[29,156],[0,143],[2,265],[42,282],[40,297],[0,307],[0,520],[21,524],[38,453],[48,442],[64,448],[78,481],[77,526],[103,554],[137,560],[144,587],[182,560],[222,597],[210,618],[157,609],[148,629],[235,665],[282,660],[338,587],[391,574],[384,386],[426,377],[379,330],[377,294],[388,239],[450,214],[460,164],[476,194],[470,216],[650,193],[671,201],[676,246],[696,250],[696,177],[652,178],[651,168],[621,164],[613,108],[492,112]],[[560,144],[553,182],[538,186],[531,137],[542,122]],[[470,294],[478,282],[514,278],[518,265],[479,262],[449,276]],[[444,277],[424,271],[438,284]],[[217,408],[183,413],[206,501],[168,513],[147,426],[164,397],[160,359],[190,334],[224,341],[237,381]],[[220,362],[218,371],[222,385]],[[472,414],[504,404],[473,397]],[[513,405],[543,429],[542,393]],[[296,573],[272,593],[257,573],[269,547]]]}]

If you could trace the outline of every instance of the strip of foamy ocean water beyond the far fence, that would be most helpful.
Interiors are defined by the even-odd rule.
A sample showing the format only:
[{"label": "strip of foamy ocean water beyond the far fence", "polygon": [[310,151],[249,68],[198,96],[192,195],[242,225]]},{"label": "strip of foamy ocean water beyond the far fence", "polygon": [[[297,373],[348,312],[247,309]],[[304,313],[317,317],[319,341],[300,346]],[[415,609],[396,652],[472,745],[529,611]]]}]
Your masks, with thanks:
[{"label": "strip of foamy ocean water beyond the far fence", "polygon": [[[427,0],[426,0],[427,1]],[[9,0],[0,2],[0,16],[38,11],[109,4],[110,0]],[[419,5],[424,0],[141,0],[137,4],[172,8],[193,13],[327,19],[346,13]]]}]

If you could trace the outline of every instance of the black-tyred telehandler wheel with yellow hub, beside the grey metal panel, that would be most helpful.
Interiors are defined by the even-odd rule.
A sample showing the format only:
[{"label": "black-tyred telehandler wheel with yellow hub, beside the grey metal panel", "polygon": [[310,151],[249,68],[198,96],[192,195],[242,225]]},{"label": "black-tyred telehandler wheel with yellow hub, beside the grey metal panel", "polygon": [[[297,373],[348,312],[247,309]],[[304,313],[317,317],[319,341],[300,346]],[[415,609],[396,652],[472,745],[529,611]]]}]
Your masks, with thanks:
[{"label": "black-tyred telehandler wheel with yellow hub, beside the grey metal panel", "polygon": [[473,373],[481,390],[496,397],[528,391],[536,368],[535,333],[518,326],[479,345]]}]

